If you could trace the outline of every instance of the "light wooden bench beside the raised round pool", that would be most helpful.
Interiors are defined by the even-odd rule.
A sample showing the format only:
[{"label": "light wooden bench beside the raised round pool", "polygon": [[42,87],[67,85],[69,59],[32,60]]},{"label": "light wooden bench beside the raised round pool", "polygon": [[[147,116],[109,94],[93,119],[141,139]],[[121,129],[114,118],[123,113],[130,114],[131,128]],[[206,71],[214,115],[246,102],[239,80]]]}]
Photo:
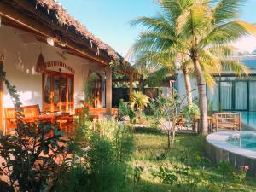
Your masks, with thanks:
[{"label": "light wooden bench beside the raised round pool", "polygon": [[214,113],[212,116],[213,127],[230,130],[241,130],[241,113]]}]

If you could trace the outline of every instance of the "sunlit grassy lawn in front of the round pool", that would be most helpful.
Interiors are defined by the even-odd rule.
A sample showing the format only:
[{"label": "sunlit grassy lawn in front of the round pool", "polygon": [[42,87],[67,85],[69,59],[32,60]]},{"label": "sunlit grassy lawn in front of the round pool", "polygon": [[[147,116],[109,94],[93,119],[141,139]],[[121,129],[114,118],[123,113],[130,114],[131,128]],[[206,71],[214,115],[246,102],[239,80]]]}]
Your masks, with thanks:
[{"label": "sunlit grassy lawn in front of the round pool", "polygon": [[178,135],[167,150],[162,133],[135,133],[132,165],[142,167],[137,191],[250,191],[256,190],[247,168],[235,169],[223,161],[212,164],[205,156],[205,137]]}]

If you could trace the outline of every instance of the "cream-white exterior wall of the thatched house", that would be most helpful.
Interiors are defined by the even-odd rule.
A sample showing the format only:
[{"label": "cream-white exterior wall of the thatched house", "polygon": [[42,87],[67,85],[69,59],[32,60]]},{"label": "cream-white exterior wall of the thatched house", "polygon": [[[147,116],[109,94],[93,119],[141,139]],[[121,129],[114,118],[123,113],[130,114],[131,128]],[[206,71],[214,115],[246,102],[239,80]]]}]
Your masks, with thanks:
[{"label": "cream-white exterior wall of the thatched house", "polygon": [[[74,73],[74,106],[79,107],[79,100],[84,99],[84,86],[89,71],[95,71],[102,75],[103,67],[95,61],[85,60],[78,56],[64,54],[62,49],[40,43],[34,35],[23,32],[9,26],[0,27],[0,52],[5,56],[4,69],[7,78],[14,84],[20,94],[23,105],[39,104],[42,110],[42,73],[35,72],[38,55],[41,53],[44,61],[61,61],[73,68]],[[49,67],[48,70],[71,73],[64,67]],[[102,96],[105,93],[102,93]],[[102,103],[102,104],[105,104]],[[13,103],[4,90],[4,108],[12,107]]]}]

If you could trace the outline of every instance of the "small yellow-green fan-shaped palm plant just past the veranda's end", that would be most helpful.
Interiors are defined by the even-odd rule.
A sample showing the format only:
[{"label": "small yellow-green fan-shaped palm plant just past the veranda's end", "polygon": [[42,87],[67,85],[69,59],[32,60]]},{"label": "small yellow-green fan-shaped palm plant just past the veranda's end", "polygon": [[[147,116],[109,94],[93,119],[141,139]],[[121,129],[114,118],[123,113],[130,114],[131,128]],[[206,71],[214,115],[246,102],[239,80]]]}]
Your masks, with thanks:
[{"label": "small yellow-green fan-shaped palm plant just past the veranda's end", "polygon": [[142,92],[134,91],[131,95],[131,108],[138,112],[139,115],[143,113],[143,109],[149,104],[148,96]]}]

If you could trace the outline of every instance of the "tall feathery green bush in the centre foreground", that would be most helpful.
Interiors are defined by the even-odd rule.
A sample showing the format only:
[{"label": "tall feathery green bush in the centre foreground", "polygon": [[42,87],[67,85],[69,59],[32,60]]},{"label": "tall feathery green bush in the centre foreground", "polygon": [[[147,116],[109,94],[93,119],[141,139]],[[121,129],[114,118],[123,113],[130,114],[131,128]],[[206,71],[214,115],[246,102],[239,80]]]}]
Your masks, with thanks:
[{"label": "tall feathery green bush in the centre foreground", "polygon": [[79,122],[78,129],[83,137],[77,140],[73,165],[55,191],[131,191],[131,131],[114,120]]}]

